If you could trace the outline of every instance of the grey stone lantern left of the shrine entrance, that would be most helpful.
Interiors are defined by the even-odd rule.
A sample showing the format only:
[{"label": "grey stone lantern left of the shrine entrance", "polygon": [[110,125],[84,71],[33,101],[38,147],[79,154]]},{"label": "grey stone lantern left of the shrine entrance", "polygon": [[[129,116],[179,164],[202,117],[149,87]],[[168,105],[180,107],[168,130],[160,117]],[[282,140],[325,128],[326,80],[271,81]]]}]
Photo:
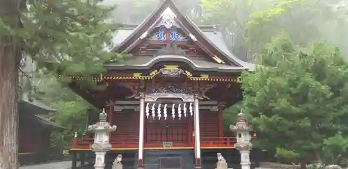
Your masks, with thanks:
[{"label": "grey stone lantern left of the shrine entrance", "polygon": [[92,151],[95,152],[95,169],[104,169],[105,167],[105,154],[111,150],[109,144],[109,133],[116,131],[116,126],[110,126],[109,122],[106,122],[107,114],[103,108],[102,113],[99,115],[100,122],[88,126],[88,131],[94,132],[94,143],[92,145]]}]

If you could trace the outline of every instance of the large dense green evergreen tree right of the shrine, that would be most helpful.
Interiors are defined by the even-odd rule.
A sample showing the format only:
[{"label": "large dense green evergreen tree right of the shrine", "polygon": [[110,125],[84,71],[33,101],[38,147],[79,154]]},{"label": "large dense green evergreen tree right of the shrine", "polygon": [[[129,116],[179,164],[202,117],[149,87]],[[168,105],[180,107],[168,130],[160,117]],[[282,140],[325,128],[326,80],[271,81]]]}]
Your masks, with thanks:
[{"label": "large dense green evergreen tree right of the shrine", "polygon": [[281,35],[258,63],[255,72],[242,74],[242,107],[260,132],[262,147],[276,148],[282,158],[324,158],[338,144],[332,142],[337,131],[347,136],[347,61],[326,43],[303,49]]}]

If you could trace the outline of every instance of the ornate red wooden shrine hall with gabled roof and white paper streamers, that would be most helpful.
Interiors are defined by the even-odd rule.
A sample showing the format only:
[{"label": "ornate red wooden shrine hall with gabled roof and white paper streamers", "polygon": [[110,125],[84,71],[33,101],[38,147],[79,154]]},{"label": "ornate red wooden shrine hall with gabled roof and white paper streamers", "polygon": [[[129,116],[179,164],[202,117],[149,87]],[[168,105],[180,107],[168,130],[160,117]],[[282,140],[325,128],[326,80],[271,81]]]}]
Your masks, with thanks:
[{"label": "ornate red wooden shrine hall with gabled roof and white paper streamers", "polygon": [[[81,85],[84,77],[70,83],[117,126],[106,165],[122,154],[124,168],[212,168],[216,152],[238,163],[222,111],[242,99],[239,76],[254,65],[234,56],[215,26],[196,26],[166,0],[141,24],[120,28],[109,51],[132,56],[105,63],[95,88]],[[74,138],[73,167],[93,156],[92,143],[92,134]]]}]

